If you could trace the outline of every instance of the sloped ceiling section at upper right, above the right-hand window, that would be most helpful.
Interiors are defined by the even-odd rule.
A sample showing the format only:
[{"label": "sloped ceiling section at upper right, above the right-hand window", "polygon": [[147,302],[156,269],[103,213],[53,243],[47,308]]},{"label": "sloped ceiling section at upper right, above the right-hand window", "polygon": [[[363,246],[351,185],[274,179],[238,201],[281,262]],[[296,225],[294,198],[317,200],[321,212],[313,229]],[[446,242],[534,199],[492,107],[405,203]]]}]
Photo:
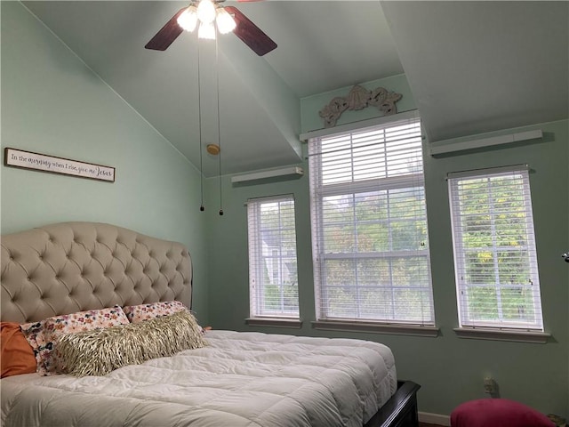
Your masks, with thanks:
[{"label": "sloped ceiling section at upper right, above the right-hand window", "polygon": [[430,141],[569,117],[569,2],[385,2]]}]

